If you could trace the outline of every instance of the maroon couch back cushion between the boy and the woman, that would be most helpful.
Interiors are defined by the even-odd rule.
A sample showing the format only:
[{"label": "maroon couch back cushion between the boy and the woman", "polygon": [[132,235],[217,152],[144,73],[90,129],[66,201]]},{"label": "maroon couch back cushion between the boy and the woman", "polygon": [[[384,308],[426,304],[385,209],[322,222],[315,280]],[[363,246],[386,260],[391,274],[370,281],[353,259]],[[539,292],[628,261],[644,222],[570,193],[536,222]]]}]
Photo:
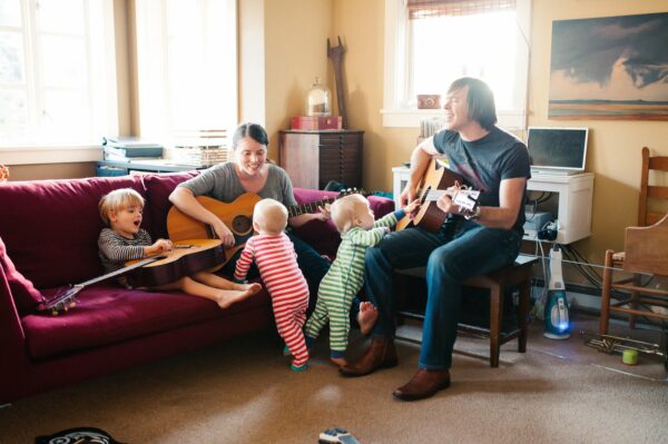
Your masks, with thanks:
[{"label": "maroon couch back cushion between the boy and the woman", "polygon": [[169,208],[171,208],[169,195],[178,184],[186,181],[198,174],[199,171],[194,170],[143,176],[151,220],[150,234],[154,238],[169,237],[167,234],[167,213],[169,211]]}]

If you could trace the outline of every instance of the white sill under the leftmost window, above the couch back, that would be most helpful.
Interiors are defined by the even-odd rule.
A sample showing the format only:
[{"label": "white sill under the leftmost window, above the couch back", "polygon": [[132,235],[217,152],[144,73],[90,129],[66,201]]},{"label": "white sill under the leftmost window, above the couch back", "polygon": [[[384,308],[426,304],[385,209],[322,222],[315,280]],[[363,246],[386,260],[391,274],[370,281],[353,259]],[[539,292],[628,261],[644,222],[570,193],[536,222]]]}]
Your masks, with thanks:
[{"label": "white sill under the leftmost window, above the couch back", "polygon": [[0,147],[2,165],[76,164],[101,159],[99,145]]}]

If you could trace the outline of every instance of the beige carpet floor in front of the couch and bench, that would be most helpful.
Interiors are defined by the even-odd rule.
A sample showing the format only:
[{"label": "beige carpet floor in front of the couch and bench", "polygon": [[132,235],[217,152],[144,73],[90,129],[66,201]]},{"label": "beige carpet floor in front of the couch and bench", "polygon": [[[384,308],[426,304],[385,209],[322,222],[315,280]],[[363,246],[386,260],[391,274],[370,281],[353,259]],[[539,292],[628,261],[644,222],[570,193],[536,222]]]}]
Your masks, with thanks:
[{"label": "beige carpet floor in front of the couch and bench", "polygon": [[[597,320],[573,319],[574,332]],[[415,325],[402,327],[419,336]],[[611,334],[658,341],[658,332],[615,324]],[[38,394],[0,408],[0,443],[35,443],[72,427],[98,427],[122,443],[316,443],[325,428],[371,443],[668,443],[668,378],[662,361],[620,355],[530,327],[528,352],[517,342],[489,366],[489,342],[460,337],[452,386],[403,403],[391,392],[414,373],[420,347],[400,341],[400,365],[361,378],[340,377],[326,336],[310,368],[295,373],[272,334],[181,354]],[[353,336],[353,353],[366,339]]]}]

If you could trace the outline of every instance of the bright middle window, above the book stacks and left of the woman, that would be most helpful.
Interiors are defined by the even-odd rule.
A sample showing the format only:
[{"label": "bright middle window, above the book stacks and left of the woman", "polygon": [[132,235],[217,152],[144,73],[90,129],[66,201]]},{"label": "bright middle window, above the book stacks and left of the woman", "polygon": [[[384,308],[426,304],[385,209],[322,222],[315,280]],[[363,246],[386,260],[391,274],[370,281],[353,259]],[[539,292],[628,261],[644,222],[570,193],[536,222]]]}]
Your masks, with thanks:
[{"label": "bright middle window, above the book stacks and left of the woman", "polygon": [[137,1],[139,126],[168,144],[183,130],[237,125],[235,0]]}]

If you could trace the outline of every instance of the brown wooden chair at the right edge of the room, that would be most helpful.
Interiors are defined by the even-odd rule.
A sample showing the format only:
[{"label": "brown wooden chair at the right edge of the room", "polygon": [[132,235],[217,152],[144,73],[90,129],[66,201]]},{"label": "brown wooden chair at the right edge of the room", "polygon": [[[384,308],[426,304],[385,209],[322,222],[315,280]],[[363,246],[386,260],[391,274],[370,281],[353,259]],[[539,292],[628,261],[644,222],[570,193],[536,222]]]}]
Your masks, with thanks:
[{"label": "brown wooden chair at the right edge of the room", "polygon": [[[667,314],[651,309],[651,306],[668,307],[668,290],[647,286],[647,280],[654,276],[668,277],[668,210],[660,207],[658,200],[661,199],[665,200],[664,205],[668,203],[668,157],[650,157],[649,148],[645,147],[638,226],[626,228],[623,251],[606,251],[599,324],[601,334],[608,333],[610,313],[629,315],[630,328],[636,327],[638,316],[668,319]],[[664,209],[657,210],[657,205]],[[620,268],[627,275],[632,275],[615,280],[615,274]],[[645,285],[642,280],[646,280]],[[615,303],[611,302],[612,292],[616,292]]]}]

